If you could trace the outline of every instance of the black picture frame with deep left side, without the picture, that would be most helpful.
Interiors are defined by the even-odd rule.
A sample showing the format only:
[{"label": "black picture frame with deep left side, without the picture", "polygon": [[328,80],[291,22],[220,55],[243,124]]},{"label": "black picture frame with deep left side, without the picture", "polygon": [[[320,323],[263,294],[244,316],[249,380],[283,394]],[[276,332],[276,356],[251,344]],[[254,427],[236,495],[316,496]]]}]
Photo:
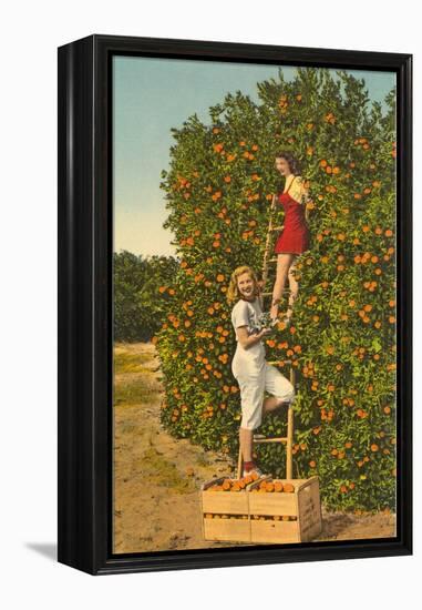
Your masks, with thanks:
[{"label": "black picture frame with deep left side, without the picture", "polygon": [[[112,555],[114,54],[394,71],[397,537]],[[93,34],[58,48],[59,561],[92,575],[412,555],[412,54]]]}]

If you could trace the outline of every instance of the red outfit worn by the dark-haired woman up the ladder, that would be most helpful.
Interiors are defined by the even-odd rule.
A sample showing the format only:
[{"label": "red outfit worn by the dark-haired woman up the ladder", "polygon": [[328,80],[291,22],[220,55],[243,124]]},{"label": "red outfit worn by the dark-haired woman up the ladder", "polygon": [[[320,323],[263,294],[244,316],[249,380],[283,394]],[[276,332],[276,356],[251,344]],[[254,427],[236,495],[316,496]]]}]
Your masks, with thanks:
[{"label": "red outfit worn by the dark-haired woman up the ladder", "polygon": [[278,201],[285,209],[285,227],[274,247],[276,254],[281,252],[301,254],[309,250],[309,228],[305,218],[303,205],[289,195],[289,189],[294,180],[287,191],[278,195]]}]

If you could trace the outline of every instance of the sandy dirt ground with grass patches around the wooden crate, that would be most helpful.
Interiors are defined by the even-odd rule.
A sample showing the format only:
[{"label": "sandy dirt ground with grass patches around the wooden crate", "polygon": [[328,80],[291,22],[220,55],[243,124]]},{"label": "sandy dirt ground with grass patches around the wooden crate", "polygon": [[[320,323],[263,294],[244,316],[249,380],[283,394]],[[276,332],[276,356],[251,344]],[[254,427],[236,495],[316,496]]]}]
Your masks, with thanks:
[{"label": "sandy dirt ground with grass patches around the wooden crate", "polygon": [[[199,487],[217,476],[234,476],[235,464],[162,428],[154,345],[116,344],[115,363],[114,552],[249,546],[203,539]],[[394,515],[322,508],[322,521],[315,541],[395,536]]]}]

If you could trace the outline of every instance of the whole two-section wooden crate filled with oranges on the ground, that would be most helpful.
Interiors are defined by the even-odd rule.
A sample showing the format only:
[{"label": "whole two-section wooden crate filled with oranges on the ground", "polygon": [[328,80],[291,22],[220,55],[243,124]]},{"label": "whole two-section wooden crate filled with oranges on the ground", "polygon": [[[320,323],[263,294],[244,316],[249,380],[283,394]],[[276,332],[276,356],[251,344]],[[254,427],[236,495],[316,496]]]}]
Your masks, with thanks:
[{"label": "whole two-section wooden crate filled with oranges on the ground", "polygon": [[[203,484],[202,522],[205,540],[236,542],[306,542],[322,528],[318,476],[309,479],[261,478],[241,491],[210,491],[220,477]],[[260,492],[260,482],[290,482],[292,492]],[[225,517],[222,517],[222,516]],[[213,516],[208,518],[207,516]],[[287,518],[284,520],[282,518]]]}]

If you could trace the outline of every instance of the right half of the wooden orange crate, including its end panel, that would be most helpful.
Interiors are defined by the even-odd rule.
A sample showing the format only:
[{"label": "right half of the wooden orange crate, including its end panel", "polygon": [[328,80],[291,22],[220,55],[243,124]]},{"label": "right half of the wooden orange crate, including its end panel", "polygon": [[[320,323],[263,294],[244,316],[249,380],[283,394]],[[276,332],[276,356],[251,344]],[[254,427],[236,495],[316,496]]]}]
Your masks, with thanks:
[{"label": "right half of the wooden orange crate, including its end panel", "polygon": [[[307,542],[321,532],[318,476],[309,479],[265,479],[289,482],[292,492],[260,492],[260,480],[248,489],[250,541],[261,543]],[[254,491],[255,489],[255,491]],[[282,519],[284,518],[284,519]]]}]

